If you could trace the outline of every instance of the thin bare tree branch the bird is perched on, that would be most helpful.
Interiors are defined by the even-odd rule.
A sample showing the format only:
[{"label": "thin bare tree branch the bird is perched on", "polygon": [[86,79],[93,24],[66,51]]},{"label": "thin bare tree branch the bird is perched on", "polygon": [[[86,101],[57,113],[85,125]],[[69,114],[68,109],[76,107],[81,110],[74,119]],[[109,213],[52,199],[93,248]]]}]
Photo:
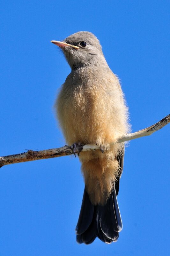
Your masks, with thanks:
[{"label": "thin bare tree branch the bird is perched on", "polygon": [[[170,114],[166,117],[164,117],[162,120],[160,120],[158,123],[153,124],[150,127],[147,127],[143,130],[140,130],[138,132],[124,134],[117,138],[116,143],[125,142],[128,140],[134,140],[140,137],[151,135],[153,132],[158,131],[162,127],[164,127],[166,124],[170,122]],[[96,150],[99,149],[96,145],[82,145],[83,149],[82,151],[89,151],[89,150]],[[47,159],[47,158],[54,158],[59,156],[68,156],[72,155],[73,152],[70,149],[70,146],[64,146],[62,148],[52,148],[47,150],[40,150],[40,151],[33,151],[28,150],[27,152],[15,154],[15,155],[9,155],[9,156],[1,156],[0,157],[0,167],[7,165],[7,164],[16,164],[16,163],[22,163],[22,162],[28,162],[28,161],[34,161],[34,160],[40,160],[40,159]]]}]

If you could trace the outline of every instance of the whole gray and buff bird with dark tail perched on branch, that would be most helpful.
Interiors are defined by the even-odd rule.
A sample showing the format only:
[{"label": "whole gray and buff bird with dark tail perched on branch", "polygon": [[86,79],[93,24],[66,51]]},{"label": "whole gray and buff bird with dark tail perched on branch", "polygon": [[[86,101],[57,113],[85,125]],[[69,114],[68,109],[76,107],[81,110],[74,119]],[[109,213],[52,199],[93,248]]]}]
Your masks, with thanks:
[{"label": "whole gray and buff bird with dark tail perched on branch", "polygon": [[78,152],[85,188],[76,240],[91,244],[98,237],[111,244],[122,230],[117,195],[125,145],[116,143],[116,138],[130,129],[128,107],[96,36],[79,31],[51,42],[60,47],[71,68],[55,101],[65,140],[75,156],[84,144],[100,148]]}]

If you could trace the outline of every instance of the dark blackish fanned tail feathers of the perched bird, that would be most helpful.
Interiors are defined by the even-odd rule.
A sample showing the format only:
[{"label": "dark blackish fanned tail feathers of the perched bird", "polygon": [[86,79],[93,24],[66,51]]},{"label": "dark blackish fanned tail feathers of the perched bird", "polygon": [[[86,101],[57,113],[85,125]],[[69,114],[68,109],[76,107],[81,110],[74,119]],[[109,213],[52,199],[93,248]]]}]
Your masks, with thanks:
[{"label": "dark blackish fanned tail feathers of the perched bird", "polygon": [[117,241],[121,230],[122,220],[115,188],[105,205],[93,205],[85,188],[76,226],[77,242],[91,244],[98,236],[101,241],[110,244]]}]

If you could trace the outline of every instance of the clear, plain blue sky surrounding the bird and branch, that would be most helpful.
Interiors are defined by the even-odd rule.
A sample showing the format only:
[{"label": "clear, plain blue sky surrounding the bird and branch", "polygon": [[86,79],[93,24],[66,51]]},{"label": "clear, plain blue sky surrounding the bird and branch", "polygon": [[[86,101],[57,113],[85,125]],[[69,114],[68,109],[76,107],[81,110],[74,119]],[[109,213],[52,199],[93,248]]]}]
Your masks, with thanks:
[{"label": "clear, plain blue sky surrounding the bird and branch", "polygon": [[[0,156],[65,145],[53,110],[70,72],[51,40],[99,39],[121,79],[132,131],[170,113],[169,1],[1,1]],[[117,243],[76,243],[84,182],[72,156],[0,169],[0,255],[169,255],[169,128],[131,141]]]}]

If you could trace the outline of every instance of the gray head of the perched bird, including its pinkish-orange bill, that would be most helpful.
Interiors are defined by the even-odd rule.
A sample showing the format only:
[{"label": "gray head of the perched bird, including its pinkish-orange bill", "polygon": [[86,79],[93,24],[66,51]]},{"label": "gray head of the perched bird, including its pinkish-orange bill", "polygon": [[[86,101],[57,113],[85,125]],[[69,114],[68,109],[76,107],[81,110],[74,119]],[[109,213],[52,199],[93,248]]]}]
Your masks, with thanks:
[{"label": "gray head of the perched bird, including its pinkish-orange bill", "polygon": [[61,47],[71,69],[107,65],[99,40],[90,32],[80,31],[63,42],[51,42]]}]

